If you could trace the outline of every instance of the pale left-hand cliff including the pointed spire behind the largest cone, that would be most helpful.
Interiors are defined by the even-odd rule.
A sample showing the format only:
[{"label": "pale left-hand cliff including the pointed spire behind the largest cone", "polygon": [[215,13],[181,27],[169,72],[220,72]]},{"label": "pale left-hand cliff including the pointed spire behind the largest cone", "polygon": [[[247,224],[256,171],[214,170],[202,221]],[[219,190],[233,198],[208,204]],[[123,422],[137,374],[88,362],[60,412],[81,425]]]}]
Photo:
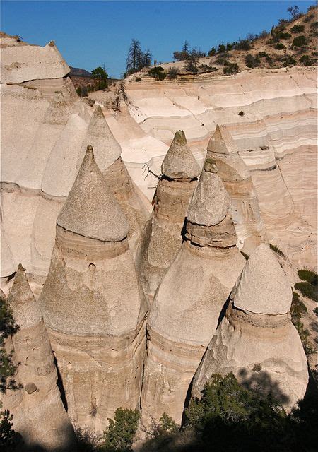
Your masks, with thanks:
[{"label": "pale left-hand cliff including the pointed spire behind the largest cone", "polygon": [[92,109],[76,95],[69,66],[54,42],[42,48],[2,37],[1,51],[2,234],[6,244],[1,278],[11,275],[23,261],[38,283],[38,296],[49,270],[54,224],[88,144],[94,145],[98,165],[108,175],[110,189],[129,219],[132,249],[151,209],[126,171],[120,145],[102,110]]}]

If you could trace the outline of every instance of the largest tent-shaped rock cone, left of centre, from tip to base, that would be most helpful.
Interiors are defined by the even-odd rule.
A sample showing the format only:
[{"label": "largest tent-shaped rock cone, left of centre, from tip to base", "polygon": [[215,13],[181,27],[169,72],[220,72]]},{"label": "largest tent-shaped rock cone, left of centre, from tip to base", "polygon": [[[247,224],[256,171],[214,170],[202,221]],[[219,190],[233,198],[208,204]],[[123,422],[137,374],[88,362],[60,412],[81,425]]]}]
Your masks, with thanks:
[{"label": "largest tent-shaped rock cone, left of centre, from tip to base", "polygon": [[102,432],[118,407],[139,406],[146,299],[129,225],[88,146],[57,218],[39,303],[77,426]]}]

